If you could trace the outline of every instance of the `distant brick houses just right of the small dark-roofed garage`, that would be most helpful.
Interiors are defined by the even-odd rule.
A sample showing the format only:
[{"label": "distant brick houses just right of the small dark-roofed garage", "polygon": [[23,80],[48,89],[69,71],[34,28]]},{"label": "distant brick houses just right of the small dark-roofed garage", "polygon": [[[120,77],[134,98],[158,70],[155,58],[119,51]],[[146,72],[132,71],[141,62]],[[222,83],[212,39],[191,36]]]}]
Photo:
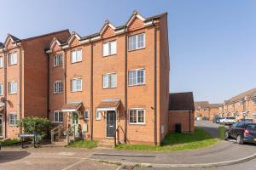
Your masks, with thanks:
[{"label": "distant brick houses just right of the small dark-roofed garage", "polygon": [[208,101],[196,101],[195,117],[212,121],[214,116],[218,116],[218,107],[219,104],[210,104]]}]

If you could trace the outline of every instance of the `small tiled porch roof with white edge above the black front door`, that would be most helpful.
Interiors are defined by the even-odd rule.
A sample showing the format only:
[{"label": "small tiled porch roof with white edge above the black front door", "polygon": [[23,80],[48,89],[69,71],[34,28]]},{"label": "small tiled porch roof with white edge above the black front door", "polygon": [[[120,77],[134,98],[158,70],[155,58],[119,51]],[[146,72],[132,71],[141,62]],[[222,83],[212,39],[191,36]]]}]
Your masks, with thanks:
[{"label": "small tiled porch roof with white edge above the black front door", "polygon": [[120,99],[104,99],[97,106],[97,111],[115,111],[119,107]]}]

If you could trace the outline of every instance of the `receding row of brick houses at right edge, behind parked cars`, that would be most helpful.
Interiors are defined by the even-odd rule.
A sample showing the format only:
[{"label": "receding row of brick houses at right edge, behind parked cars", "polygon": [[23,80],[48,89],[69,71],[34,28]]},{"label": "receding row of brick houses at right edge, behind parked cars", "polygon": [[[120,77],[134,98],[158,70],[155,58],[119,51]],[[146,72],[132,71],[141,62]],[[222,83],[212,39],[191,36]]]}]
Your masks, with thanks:
[{"label": "receding row of brick houses at right edge, behind parked cars", "polygon": [[218,108],[219,116],[235,116],[236,120],[253,119],[256,122],[256,88],[228,100]]}]

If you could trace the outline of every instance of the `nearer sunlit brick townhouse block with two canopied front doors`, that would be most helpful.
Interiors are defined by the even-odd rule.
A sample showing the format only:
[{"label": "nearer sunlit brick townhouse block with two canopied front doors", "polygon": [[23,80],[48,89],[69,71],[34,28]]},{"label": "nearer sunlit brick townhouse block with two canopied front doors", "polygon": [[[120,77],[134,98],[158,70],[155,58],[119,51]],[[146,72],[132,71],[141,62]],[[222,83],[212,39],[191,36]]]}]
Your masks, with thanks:
[{"label": "nearer sunlit brick townhouse block with two canopied front doors", "polygon": [[137,11],[124,26],[49,45],[49,118],[85,138],[160,144],[168,131],[167,14]]}]

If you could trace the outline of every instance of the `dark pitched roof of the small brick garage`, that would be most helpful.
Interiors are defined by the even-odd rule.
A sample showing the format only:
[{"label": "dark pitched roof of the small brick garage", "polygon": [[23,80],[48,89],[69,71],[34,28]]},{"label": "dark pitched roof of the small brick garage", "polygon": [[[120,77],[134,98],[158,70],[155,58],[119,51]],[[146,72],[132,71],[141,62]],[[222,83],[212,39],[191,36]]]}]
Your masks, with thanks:
[{"label": "dark pitched roof of the small brick garage", "polygon": [[169,94],[169,111],[194,111],[192,92]]}]

